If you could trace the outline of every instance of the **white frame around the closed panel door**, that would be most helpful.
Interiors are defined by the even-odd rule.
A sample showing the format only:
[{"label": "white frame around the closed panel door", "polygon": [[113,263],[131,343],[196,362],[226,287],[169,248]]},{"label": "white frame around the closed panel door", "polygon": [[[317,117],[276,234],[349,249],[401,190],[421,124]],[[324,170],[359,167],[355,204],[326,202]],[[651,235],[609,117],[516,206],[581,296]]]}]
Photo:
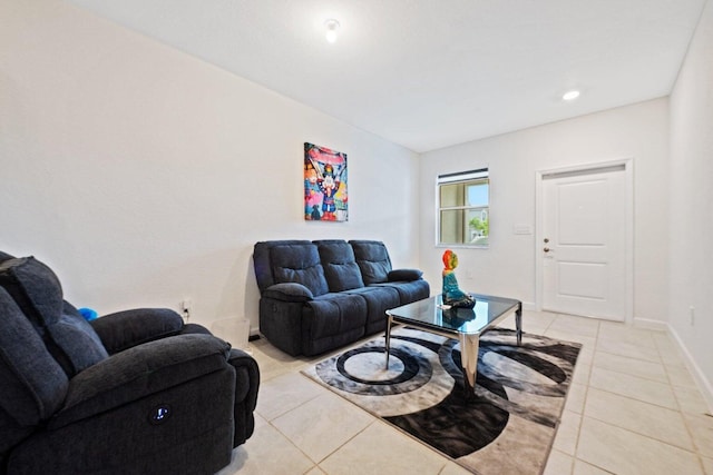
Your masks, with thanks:
[{"label": "white frame around the closed panel door", "polygon": [[543,269],[543,239],[545,239],[544,219],[545,212],[543,209],[543,179],[548,175],[558,175],[567,172],[586,172],[609,167],[624,166],[624,180],[626,186],[626,206],[625,219],[626,219],[626,307],[625,318],[626,324],[634,321],[634,159],[622,158],[611,161],[600,161],[594,164],[575,165],[572,167],[553,168],[546,170],[536,171],[535,182],[535,307],[537,310],[543,309],[543,291],[544,291],[544,269]]}]

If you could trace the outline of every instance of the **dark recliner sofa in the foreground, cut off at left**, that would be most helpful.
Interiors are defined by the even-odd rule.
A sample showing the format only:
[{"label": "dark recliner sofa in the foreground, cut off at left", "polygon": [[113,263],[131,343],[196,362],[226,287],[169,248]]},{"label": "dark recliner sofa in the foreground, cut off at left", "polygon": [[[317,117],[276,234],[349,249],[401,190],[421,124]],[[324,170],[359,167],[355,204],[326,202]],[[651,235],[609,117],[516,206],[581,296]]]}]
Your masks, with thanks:
[{"label": "dark recliner sofa in the foreground, cut off at left", "polygon": [[253,433],[260,370],[168,309],[87,321],[0,253],[0,474],[213,474]]}]

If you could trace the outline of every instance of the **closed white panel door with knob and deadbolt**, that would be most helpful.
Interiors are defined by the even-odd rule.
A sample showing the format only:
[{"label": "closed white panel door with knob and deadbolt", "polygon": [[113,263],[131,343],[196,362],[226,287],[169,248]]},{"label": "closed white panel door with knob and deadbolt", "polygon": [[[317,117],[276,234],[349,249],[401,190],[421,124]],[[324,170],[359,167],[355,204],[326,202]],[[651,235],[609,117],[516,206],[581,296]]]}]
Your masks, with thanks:
[{"label": "closed white panel door with knob and deadbolt", "polygon": [[624,165],[544,175],[543,308],[624,321],[627,195]]}]

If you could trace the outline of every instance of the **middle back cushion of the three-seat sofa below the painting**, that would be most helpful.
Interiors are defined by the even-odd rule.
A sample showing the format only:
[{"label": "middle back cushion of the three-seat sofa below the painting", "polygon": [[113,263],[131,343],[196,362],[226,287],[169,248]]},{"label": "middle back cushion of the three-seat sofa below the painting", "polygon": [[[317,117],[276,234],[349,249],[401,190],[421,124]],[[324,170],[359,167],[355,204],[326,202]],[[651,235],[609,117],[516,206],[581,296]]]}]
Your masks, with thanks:
[{"label": "middle back cushion of the three-seat sofa below the painting", "polygon": [[330,291],[361,288],[364,281],[354,258],[354,250],[345,240],[316,240],[320,259]]}]

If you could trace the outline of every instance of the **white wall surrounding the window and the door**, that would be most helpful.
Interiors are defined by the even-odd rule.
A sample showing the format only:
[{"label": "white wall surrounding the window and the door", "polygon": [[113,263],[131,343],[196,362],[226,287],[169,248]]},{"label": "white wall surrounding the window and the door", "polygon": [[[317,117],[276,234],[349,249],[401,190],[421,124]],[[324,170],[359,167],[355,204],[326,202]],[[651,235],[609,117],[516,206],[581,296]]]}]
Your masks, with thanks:
[{"label": "white wall surrounding the window and the door", "polygon": [[[439,174],[490,169],[490,247],[456,249],[462,287],[535,306],[536,171],[632,158],[634,161],[634,318],[667,318],[668,102],[656,99],[423,154],[421,266],[440,288],[442,247],[434,245]],[[531,235],[515,235],[514,225]],[[473,276],[467,278],[467,269]]]}]

